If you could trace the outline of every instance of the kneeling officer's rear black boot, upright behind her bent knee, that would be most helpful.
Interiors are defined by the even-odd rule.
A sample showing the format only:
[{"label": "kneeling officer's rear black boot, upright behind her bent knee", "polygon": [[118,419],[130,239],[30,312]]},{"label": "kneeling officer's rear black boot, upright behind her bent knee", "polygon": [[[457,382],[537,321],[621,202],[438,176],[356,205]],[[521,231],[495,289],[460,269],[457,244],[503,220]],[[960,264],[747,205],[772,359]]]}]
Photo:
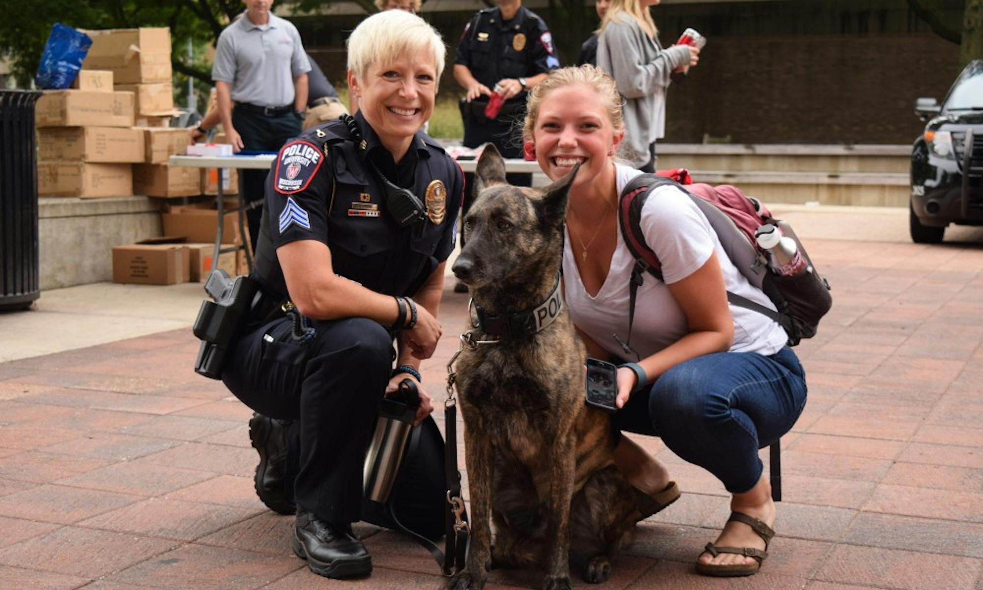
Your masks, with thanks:
[{"label": "kneeling officer's rear black boot, upright behind her bent knee", "polygon": [[256,412],[249,421],[249,440],[260,453],[260,464],[256,466],[256,495],[266,507],[280,514],[293,514],[296,510],[293,499],[287,496],[284,481],[289,430],[289,420],[267,418]]}]

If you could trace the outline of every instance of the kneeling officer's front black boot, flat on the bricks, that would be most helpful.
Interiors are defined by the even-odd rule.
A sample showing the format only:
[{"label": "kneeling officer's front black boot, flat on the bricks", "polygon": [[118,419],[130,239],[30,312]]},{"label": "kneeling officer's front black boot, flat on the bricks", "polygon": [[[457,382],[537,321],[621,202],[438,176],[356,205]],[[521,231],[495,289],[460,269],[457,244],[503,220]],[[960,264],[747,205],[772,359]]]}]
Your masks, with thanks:
[{"label": "kneeling officer's front black boot, flat on the bricks", "polygon": [[372,556],[352,534],[350,524],[331,524],[311,512],[297,511],[294,554],[307,560],[311,571],[330,578],[349,578],[372,573]]}]

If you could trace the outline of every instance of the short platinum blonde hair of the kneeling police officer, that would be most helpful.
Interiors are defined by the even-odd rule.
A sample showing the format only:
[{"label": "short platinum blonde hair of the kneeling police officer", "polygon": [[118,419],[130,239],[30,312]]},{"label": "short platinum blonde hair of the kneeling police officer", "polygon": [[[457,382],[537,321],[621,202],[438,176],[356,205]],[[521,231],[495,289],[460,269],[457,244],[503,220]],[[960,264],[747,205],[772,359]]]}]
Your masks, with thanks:
[{"label": "short platinum blonde hair of the kneeling police officer", "polygon": [[436,78],[443,73],[447,48],[440,33],[426,21],[405,10],[387,10],[359,23],[346,41],[348,69],[359,80],[372,64],[390,64],[401,55],[430,51],[434,55]]}]

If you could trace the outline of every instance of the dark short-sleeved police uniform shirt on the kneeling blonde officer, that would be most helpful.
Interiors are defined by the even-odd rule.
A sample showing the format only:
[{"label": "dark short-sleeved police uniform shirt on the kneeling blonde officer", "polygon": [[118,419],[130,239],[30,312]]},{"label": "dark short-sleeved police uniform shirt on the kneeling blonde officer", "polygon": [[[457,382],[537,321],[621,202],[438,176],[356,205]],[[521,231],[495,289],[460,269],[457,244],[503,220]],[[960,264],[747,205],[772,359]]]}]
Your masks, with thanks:
[{"label": "dark short-sleeved police uniform shirt on the kneeling blonde officer", "polygon": [[[260,259],[272,252],[271,271],[260,280],[286,294],[275,249],[297,240],[318,240],[331,251],[335,273],[379,293],[412,295],[454,249],[455,220],[464,192],[460,167],[433,139],[418,132],[396,165],[361,113],[356,145],[341,121],[305,132],[280,149],[266,180]],[[413,191],[427,207],[423,221],[400,227],[389,215],[382,174]],[[260,252],[264,251],[264,252]]]}]

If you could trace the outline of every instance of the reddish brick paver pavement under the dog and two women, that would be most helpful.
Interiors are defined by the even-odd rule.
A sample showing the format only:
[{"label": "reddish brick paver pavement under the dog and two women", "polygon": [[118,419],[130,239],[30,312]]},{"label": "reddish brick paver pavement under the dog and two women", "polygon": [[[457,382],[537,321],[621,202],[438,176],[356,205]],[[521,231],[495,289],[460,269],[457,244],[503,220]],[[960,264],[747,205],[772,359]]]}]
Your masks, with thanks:
[{"label": "reddish brick paver pavement under the dog and two women", "polygon": [[[983,590],[983,250],[809,245],[835,307],[797,348],[809,402],[782,440],[772,557],[752,578],[693,573],[723,524],[723,487],[642,439],[684,494],[641,523],[605,588]],[[465,302],[447,293],[424,365],[437,400]],[[0,587],[439,584],[424,550],[368,525],[370,578],[326,580],[294,558],[292,519],[253,493],[250,412],[192,373],[197,349],[183,329],[0,365]],[[490,587],[539,577],[494,571]]]}]

